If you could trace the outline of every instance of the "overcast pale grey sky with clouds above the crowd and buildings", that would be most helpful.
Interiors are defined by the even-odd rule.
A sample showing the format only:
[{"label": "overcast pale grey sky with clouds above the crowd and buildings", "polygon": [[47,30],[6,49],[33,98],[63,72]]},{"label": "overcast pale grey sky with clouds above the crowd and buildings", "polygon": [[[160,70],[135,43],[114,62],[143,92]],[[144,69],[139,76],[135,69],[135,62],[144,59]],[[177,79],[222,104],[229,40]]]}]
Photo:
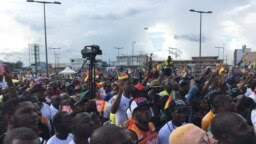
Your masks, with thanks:
[{"label": "overcast pale grey sky with clouds above the crowd and buildings", "polygon": [[[26,0],[0,0],[1,60],[28,63],[28,44],[40,45],[40,60],[45,61],[43,5]],[[134,52],[153,53],[166,59],[168,48],[178,48],[178,59],[199,53],[199,14],[189,9],[213,11],[203,15],[202,56],[217,56],[215,46],[225,47],[233,61],[234,49],[243,44],[255,50],[256,0],[60,0],[47,5],[48,47],[61,48],[61,61],[81,58],[85,45],[97,44],[103,60],[114,60]],[[147,27],[148,30],[144,28]],[[14,53],[15,52],[15,53]],[[16,53],[23,55],[16,56]],[[26,55],[25,55],[26,54]],[[53,62],[53,51],[48,50]],[[222,58],[222,50],[220,50]]]}]

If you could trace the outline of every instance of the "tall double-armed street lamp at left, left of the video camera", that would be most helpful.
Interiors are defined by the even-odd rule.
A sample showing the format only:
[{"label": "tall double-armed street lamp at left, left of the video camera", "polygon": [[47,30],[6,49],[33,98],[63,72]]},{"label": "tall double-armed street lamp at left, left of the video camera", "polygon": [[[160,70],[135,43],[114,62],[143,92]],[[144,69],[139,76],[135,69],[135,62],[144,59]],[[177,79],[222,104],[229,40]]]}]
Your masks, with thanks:
[{"label": "tall double-armed street lamp at left, left of the video camera", "polygon": [[48,72],[48,52],[47,52],[47,34],[46,34],[46,16],[45,16],[45,4],[61,4],[59,1],[35,1],[35,0],[27,0],[27,2],[35,2],[35,3],[41,3],[44,7],[44,42],[45,42],[45,60],[46,60],[46,74],[47,77],[49,76]]}]

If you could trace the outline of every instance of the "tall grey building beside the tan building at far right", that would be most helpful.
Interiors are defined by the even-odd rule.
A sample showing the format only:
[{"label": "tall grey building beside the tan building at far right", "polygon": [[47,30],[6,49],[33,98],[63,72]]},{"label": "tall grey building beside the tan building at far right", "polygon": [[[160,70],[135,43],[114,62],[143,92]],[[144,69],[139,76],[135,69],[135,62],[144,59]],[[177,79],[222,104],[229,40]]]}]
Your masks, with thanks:
[{"label": "tall grey building beside the tan building at far right", "polygon": [[247,52],[251,52],[251,48],[246,48],[246,45],[242,46],[242,49],[235,49],[234,52],[234,65],[242,64],[242,59]]}]

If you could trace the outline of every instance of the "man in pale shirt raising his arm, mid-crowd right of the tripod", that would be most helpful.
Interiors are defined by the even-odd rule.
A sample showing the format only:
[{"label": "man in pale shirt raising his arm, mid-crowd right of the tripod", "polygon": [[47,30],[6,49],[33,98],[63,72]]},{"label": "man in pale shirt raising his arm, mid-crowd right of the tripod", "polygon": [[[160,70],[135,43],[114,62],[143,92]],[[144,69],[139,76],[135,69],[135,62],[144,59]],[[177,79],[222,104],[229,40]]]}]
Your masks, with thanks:
[{"label": "man in pale shirt raising his arm, mid-crowd right of the tripod", "polygon": [[111,113],[116,116],[116,125],[119,126],[127,121],[126,110],[131,101],[132,81],[129,79],[118,81],[119,92],[113,97],[114,102],[111,106]]}]

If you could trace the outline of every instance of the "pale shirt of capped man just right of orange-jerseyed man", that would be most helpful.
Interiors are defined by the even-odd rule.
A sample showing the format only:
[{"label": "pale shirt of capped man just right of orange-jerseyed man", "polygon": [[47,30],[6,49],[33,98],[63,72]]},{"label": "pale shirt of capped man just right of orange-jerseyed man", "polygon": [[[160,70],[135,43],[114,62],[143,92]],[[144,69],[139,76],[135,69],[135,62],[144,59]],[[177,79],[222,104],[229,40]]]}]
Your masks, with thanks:
[{"label": "pale shirt of capped man just right of orange-jerseyed man", "polygon": [[159,144],[169,144],[169,136],[176,128],[172,121],[167,122],[158,132]]}]

